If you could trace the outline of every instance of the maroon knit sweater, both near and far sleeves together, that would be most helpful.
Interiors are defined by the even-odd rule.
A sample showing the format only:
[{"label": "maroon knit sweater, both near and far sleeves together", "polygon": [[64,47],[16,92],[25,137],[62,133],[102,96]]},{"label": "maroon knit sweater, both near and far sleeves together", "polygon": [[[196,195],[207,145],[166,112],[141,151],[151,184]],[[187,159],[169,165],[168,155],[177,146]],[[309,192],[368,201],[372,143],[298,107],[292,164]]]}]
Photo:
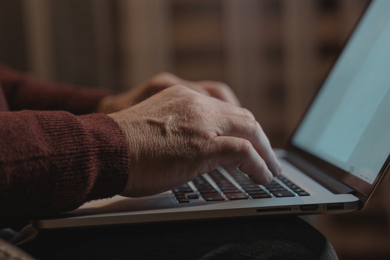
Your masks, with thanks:
[{"label": "maroon knit sweater, both near and far sleeves together", "polygon": [[90,114],[106,94],[0,64],[0,228],[124,189],[126,139],[113,119]]}]

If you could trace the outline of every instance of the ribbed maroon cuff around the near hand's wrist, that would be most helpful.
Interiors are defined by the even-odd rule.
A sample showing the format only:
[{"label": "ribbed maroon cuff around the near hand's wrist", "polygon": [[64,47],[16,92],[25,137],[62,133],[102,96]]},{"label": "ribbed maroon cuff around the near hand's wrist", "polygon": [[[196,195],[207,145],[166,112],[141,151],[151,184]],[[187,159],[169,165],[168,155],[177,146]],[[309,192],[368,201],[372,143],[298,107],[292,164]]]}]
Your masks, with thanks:
[{"label": "ribbed maroon cuff around the near hand's wrist", "polygon": [[54,146],[51,167],[58,177],[53,183],[53,203],[70,210],[124,189],[128,145],[113,119],[104,114],[74,116],[67,112],[41,112],[37,119]]}]

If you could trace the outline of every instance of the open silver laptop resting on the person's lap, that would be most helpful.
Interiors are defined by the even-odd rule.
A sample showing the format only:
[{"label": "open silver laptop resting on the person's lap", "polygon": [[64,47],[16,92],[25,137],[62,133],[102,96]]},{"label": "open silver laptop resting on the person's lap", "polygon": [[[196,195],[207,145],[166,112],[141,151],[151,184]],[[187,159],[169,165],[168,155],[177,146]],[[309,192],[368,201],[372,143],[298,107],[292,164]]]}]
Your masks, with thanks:
[{"label": "open silver laptop resting on the person's lap", "polygon": [[183,221],[271,214],[335,214],[363,208],[389,169],[390,1],[373,0],[286,150],[283,173],[256,185],[218,167],[172,191],[114,196],[33,221],[35,228]]}]

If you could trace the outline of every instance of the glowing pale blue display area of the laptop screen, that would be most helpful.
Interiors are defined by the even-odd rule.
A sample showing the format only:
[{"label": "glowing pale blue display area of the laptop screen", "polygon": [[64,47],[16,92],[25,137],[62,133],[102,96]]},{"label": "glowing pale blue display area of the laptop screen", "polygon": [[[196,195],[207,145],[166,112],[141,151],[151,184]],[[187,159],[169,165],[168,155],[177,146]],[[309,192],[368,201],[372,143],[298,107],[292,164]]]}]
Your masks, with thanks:
[{"label": "glowing pale blue display area of the laptop screen", "polygon": [[390,153],[390,1],[373,1],[292,144],[372,184]]}]

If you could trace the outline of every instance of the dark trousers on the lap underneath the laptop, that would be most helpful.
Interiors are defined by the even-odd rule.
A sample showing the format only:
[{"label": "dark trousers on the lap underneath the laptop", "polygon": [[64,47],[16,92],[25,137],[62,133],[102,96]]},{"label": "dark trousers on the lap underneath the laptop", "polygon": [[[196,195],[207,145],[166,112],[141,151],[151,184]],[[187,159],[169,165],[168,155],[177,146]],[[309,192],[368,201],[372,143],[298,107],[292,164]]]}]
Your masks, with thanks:
[{"label": "dark trousers on the lap underneath the laptop", "polygon": [[294,216],[40,233],[29,225],[13,242],[38,259],[337,259],[328,240]]}]

